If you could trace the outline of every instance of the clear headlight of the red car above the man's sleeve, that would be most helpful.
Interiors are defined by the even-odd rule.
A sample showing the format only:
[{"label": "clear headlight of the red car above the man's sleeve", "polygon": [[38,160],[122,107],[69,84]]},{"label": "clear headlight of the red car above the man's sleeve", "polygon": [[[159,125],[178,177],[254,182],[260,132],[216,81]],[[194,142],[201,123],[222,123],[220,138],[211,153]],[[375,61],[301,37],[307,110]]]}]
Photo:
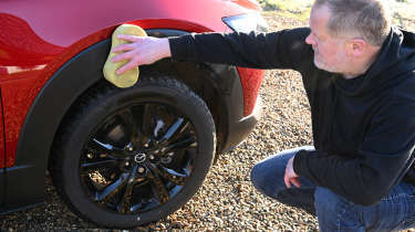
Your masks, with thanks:
[{"label": "clear headlight of the red car above the man's sleeve", "polygon": [[268,31],[268,24],[260,14],[249,13],[249,14],[226,17],[226,18],[222,18],[222,21],[235,32],[249,33],[251,31],[256,31],[256,32]]}]

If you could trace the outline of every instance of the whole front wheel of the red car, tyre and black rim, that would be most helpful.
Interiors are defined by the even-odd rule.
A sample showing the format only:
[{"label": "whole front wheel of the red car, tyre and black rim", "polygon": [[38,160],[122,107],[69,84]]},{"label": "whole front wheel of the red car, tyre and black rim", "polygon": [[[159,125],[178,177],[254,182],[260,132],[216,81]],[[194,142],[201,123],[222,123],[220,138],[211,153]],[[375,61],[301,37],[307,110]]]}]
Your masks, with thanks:
[{"label": "whole front wheel of the red car, tyre and black rim", "polygon": [[212,117],[181,82],[101,83],[66,116],[50,169],[70,208],[106,228],[160,220],[186,203],[212,161]]}]

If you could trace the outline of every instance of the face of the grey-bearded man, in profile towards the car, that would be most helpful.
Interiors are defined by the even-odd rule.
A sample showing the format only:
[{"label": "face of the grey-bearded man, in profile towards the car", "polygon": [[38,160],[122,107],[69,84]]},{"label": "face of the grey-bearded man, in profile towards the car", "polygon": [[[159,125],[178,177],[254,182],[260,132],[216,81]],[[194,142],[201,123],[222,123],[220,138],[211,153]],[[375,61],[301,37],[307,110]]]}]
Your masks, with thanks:
[{"label": "face of the grey-bearded man, in profile towards the car", "polygon": [[325,6],[313,7],[310,15],[311,33],[305,42],[314,50],[314,64],[321,70],[332,73],[346,72],[346,55],[344,40],[333,38],[328,33],[326,24],[330,10]]}]

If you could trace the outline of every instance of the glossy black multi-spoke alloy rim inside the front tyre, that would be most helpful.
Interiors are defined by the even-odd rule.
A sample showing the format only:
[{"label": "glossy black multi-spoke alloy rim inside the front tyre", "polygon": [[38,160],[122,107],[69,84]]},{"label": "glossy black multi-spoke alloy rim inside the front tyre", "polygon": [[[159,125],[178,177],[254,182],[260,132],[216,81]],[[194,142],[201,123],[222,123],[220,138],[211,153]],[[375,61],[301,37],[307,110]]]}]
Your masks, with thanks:
[{"label": "glossy black multi-spoke alloy rim inside the front tyre", "polygon": [[174,108],[157,103],[127,106],[86,143],[81,181],[105,209],[148,211],[186,184],[196,150],[194,127]]}]

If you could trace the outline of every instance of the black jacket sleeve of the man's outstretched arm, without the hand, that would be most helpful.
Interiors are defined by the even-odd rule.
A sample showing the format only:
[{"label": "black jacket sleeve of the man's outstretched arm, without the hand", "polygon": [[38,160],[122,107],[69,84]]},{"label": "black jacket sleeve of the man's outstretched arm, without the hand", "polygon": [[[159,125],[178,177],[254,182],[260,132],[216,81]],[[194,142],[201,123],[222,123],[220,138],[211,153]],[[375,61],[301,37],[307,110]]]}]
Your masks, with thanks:
[{"label": "black jacket sleeve of the man's outstretched arm, without the hand", "polygon": [[170,38],[172,59],[253,68],[294,68],[312,51],[305,44],[310,29],[272,33],[201,33]]}]

